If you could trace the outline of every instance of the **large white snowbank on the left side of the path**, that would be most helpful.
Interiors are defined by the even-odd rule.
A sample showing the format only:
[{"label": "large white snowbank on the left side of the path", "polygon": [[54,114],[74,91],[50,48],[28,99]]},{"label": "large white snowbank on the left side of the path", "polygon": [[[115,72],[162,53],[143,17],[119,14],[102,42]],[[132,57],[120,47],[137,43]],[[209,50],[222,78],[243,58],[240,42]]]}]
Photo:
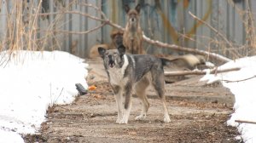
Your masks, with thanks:
[{"label": "large white snowbank on the left side of the path", "polygon": [[0,57],[0,142],[23,142],[19,134],[37,132],[48,106],[74,100],[75,83],[87,88],[87,65],[72,54],[17,51]]}]

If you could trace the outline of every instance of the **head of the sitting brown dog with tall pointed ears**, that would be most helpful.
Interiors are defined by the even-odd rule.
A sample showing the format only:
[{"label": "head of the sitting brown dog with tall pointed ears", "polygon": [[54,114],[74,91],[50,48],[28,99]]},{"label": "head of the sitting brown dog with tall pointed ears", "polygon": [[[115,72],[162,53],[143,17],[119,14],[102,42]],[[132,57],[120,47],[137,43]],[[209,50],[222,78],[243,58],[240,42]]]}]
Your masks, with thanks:
[{"label": "head of the sitting brown dog with tall pointed ears", "polygon": [[125,13],[127,14],[128,23],[131,25],[137,25],[140,15],[141,5],[138,3],[135,9],[130,9],[130,7],[125,5]]}]

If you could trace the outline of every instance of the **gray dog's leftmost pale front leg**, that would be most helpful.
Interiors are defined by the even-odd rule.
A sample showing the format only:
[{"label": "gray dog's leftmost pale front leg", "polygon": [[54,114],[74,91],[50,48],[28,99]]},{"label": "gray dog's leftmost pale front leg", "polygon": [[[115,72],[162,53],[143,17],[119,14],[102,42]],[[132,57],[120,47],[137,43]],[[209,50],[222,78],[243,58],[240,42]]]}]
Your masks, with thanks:
[{"label": "gray dog's leftmost pale front leg", "polygon": [[123,95],[121,93],[121,89],[119,86],[114,85],[112,86],[116,105],[118,108],[118,118],[116,120],[116,123],[120,123],[121,119],[123,118],[123,111],[122,111],[122,102],[123,102]]}]

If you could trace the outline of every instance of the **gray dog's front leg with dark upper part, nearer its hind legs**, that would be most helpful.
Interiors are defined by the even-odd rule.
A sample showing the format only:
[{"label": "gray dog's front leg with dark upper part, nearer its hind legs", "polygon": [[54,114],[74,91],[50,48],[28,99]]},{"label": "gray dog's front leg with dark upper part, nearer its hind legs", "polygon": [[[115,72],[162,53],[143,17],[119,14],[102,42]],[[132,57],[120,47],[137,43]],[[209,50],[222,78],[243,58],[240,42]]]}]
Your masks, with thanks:
[{"label": "gray dog's front leg with dark upper part, nearer its hind legs", "polygon": [[132,89],[131,83],[126,83],[124,93],[123,93],[125,96],[123,118],[119,123],[128,123],[128,119],[131,112],[131,89]]}]

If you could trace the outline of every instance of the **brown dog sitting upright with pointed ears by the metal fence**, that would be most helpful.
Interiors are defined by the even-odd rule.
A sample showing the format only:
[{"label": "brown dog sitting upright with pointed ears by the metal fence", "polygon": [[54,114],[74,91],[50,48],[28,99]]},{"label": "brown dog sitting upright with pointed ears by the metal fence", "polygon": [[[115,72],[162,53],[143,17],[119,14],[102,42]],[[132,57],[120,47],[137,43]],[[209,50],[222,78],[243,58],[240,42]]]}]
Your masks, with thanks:
[{"label": "brown dog sitting upright with pointed ears by the metal fence", "polygon": [[124,45],[128,53],[143,54],[143,30],[140,26],[141,5],[137,4],[135,9],[125,5],[127,24],[124,31]]}]

